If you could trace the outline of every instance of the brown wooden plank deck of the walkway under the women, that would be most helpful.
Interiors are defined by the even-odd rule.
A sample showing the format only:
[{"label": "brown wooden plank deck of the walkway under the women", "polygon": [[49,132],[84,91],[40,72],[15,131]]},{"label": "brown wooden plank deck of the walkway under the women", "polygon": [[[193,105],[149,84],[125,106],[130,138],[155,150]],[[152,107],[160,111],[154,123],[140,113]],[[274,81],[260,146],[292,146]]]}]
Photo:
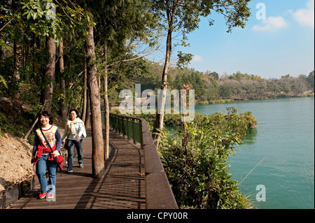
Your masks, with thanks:
[{"label": "brown wooden plank deck of the walkway under the women", "polygon": [[146,208],[144,152],[114,131],[110,132],[110,157],[105,176],[92,178],[92,138],[83,141],[84,168],[73,160],[73,173],[57,174],[55,201],[38,199],[39,185],[10,209],[142,209]]}]

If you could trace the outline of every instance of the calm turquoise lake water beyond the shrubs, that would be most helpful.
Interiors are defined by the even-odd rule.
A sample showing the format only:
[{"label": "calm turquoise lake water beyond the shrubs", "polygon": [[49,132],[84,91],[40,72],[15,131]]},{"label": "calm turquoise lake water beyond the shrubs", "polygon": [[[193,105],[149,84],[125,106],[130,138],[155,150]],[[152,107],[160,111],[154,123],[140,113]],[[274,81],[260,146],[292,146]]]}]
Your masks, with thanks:
[{"label": "calm turquoise lake water beyond the shrubs", "polygon": [[314,97],[198,105],[195,111],[210,115],[228,107],[251,111],[258,122],[230,157],[229,173],[238,182],[258,164],[241,192],[261,209],[314,208]]}]

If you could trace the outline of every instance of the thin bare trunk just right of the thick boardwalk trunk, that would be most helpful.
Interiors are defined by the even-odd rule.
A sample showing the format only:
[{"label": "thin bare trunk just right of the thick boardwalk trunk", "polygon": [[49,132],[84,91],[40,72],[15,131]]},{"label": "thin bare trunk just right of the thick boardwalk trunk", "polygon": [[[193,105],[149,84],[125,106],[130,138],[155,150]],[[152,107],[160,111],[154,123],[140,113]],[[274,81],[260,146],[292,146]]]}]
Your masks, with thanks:
[{"label": "thin bare trunk just right of the thick boardwalk trunk", "polygon": [[104,146],[104,153],[105,153],[105,160],[109,159],[109,97],[107,95],[107,44],[104,43],[104,108],[105,108],[105,146]]}]

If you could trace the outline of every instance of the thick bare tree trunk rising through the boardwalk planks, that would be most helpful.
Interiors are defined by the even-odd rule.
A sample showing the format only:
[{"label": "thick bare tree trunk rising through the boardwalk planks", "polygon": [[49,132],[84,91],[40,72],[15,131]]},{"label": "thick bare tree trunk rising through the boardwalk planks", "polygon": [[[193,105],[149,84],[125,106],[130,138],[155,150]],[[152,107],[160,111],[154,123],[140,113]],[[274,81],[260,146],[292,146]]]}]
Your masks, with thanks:
[{"label": "thick bare tree trunk rising through the boardwalk planks", "polygon": [[92,176],[104,177],[104,142],[102,134],[101,103],[97,82],[96,56],[94,51],[93,27],[87,28],[85,43],[87,57],[87,82],[90,93],[90,109],[92,121]]}]

